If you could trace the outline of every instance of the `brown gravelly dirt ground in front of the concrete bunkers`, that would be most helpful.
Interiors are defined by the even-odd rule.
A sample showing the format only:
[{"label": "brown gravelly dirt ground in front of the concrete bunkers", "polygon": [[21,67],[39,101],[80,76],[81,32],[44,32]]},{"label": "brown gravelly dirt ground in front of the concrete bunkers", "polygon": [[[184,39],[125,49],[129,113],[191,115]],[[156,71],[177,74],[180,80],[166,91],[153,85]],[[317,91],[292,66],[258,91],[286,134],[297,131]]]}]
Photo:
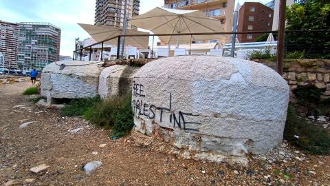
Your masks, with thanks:
[{"label": "brown gravelly dirt ground in front of the concrete bunkers", "polygon": [[[21,92],[30,83],[0,85],[0,185],[329,185],[329,156],[307,156],[285,147],[253,158],[250,166],[184,160],[133,136],[112,140],[82,118],[36,107]],[[15,105],[23,105],[14,107]],[[33,121],[20,129],[22,123]],[[78,132],[70,130],[81,128]],[[148,141],[148,138],[144,139]],[[104,147],[99,145],[106,144]],[[158,143],[159,144],[159,143]],[[94,155],[92,154],[94,152]],[[291,155],[289,155],[291,154]],[[298,160],[295,157],[300,157]],[[91,175],[83,165],[102,161]],[[50,167],[39,174],[31,167]],[[235,174],[236,173],[236,174]]]}]

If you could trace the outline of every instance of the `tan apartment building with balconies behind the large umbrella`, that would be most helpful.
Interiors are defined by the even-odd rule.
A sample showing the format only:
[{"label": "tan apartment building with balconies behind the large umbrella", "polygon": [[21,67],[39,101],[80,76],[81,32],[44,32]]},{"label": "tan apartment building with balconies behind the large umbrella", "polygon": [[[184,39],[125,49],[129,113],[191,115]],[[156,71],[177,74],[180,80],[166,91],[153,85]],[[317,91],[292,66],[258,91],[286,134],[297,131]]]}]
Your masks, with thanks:
[{"label": "tan apartment building with balconies behind the large umbrella", "polygon": [[[164,8],[175,8],[179,10],[202,10],[208,17],[219,19],[221,25],[223,26],[223,30],[219,30],[219,32],[232,32],[234,6],[234,0],[164,0]],[[231,37],[228,35],[225,39],[219,41],[221,43],[229,43],[230,39]]]}]

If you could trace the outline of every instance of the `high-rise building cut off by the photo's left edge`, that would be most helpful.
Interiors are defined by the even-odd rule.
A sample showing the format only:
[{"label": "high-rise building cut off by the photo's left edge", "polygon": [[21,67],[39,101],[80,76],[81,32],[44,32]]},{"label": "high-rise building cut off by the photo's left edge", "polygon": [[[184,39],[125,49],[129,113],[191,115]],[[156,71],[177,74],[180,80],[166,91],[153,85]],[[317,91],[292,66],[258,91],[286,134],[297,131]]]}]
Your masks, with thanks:
[{"label": "high-rise building cut off by the photo's left edge", "polygon": [[0,53],[3,56],[0,68],[17,69],[18,31],[17,23],[0,20]]}]

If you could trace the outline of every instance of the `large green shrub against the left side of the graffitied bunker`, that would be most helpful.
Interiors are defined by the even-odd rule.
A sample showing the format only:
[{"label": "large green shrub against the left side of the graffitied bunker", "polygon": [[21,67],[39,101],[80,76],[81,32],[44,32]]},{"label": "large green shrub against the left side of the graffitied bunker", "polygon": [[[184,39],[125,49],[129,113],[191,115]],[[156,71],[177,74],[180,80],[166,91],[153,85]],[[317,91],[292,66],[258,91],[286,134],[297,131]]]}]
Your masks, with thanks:
[{"label": "large green shrub against the left side of the graffitied bunker", "polygon": [[102,101],[85,112],[85,118],[98,127],[111,128],[111,136],[124,136],[133,128],[131,94]]}]

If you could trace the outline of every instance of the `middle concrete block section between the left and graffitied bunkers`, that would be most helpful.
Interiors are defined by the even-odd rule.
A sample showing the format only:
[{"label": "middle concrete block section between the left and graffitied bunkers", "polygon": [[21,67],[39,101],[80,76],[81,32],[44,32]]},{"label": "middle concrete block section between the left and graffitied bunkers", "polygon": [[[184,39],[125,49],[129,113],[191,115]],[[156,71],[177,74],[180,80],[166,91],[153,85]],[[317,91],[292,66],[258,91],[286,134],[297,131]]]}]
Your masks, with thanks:
[{"label": "middle concrete block section between the left and graffitied bunkers", "polygon": [[104,68],[100,74],[98,93],[102,99],[121,96],[131,90],[132,79],[140,68],[127,65],[113,65]]}]

